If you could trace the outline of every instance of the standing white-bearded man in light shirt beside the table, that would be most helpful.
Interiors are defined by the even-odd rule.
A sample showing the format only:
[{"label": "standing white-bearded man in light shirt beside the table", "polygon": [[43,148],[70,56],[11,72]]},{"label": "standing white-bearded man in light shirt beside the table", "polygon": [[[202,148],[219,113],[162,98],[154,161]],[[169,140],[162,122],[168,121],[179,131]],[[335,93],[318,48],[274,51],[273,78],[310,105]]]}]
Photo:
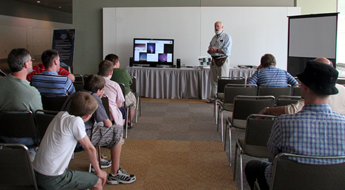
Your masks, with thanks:
[{"label": "standing white-bearded man in light shirt beside the table", "polygon": [[207,103],[215,102],[215,94],[217,93],[217,78],[220,76],[229,76],[231,52],[233,39],[229,34],[224,32],[223,23],[217,21],[215,23],[215,36],[208,46],[208,54],[212,56],[211,70],[211,94]]}]

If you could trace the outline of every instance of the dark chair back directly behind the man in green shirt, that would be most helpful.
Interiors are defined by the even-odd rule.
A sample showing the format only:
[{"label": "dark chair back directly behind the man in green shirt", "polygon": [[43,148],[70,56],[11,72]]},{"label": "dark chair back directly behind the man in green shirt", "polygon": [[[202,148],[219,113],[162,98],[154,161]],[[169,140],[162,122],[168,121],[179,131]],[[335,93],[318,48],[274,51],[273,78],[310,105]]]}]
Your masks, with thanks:
[{"label": "dark chair back directly behind the man in green shirt", "polygon": [[32,112],[28,109],[0,109],[0,136],[34,138],[38,146],[36,127]]}]

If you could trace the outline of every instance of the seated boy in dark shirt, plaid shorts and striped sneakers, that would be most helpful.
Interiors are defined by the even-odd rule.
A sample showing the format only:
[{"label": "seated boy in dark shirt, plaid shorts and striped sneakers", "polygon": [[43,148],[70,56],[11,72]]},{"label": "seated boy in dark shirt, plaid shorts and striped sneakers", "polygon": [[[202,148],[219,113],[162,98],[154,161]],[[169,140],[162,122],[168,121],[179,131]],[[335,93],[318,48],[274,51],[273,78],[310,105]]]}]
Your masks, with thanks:
[{"label": "seated boy in dark shirt, plaid shorts and striped sneakers", "polygon": [[[112,125],[112,122],[108,119],[106,109],[101,102],[101,96],[104,94],[104,85],[106,82],[102,76],[97,74],[91,74],[86,78],[83,92],[91,94],[97,101],[98,107],[92,114],[90,120],[86,121],[86,134],[90,138],[92,145],[99,145],[101,147],[109,147],[111,154],[111,162],[101,160],[101,168],[107,168],[111,166],[111,170],[108,176],[108,184],[129,184],[134,182],[137,177],[126,173],[124,169],[120,167],[120,156],[122,149],[122,136],[124,129],[120,125]],[[63,110],[68,110],[70,105],[70,99],[74,96],[72,94],[66,100],[63,105]],[[120,142],[120,143],[119,143]],[[74,147],[73,147],[74,148]],[[93,170],[93,168],[92,168]]]}]

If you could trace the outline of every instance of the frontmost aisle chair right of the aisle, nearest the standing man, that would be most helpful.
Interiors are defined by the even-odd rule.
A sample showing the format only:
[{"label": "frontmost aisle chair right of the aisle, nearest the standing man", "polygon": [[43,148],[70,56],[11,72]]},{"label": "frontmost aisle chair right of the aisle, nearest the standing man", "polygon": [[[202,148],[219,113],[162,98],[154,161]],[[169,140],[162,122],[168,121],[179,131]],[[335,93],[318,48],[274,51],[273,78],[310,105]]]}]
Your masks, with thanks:
[{"label": "frontmost aisle chair right of the aisle, nearest the standing man", "polygon": [[215,123],[217,124],[217,101],[223,101],[224,100],[224,87],[227,84],[245,84],[246,79],[243,76],[236,76],[236,77],[226,77],[221,76],[217,79],[217,93],[215,94],[215,107],[213,109],[213,115],[215,116]]}]

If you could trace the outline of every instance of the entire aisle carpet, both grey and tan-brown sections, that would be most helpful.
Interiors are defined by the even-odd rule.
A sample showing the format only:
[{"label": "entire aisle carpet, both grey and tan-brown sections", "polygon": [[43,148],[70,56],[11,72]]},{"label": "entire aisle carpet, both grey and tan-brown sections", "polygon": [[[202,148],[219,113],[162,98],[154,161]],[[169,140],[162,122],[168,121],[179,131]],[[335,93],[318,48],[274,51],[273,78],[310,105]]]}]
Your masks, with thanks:
[{"label": "entire aisle carpet, both grey and tan-brown sections", "polygon": [[[141,116],[128,130],[121,153],[121,167],[137,175],[137,181],[106,184],[104,189],[240,189],[239,160],[235,183],[228,146],[224,151],[221,131],[215,125],[213,104],[144,98],[141,106]],[[230,113],[224,113],[227,116]],[[235,140],[244,138],[244,130],[232,129],[232,133],[234,163]],[[102,148],[102,154],[110,158],[108,149]],[[252,159],[244,156],[244,166]],[[70,169],[87,171],[86,155],[75,154]],[[249,189],[245,179],[244,189]]]}]

